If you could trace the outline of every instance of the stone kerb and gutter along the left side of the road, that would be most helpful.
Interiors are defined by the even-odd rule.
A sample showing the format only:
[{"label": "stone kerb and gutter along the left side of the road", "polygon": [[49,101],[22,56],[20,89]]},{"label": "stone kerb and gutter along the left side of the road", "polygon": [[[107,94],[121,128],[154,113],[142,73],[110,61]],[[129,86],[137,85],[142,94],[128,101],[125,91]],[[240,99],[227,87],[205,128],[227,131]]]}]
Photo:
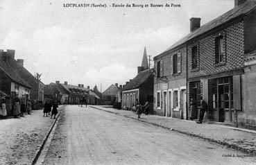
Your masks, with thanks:
[{"label": "stone kerb and gutter along the left side of the road", "polygon": [[40,156],[42,149],[44,148],[44,145],[46,143],[46,140],[48,139],[49,135],[51,134],[51,131],[53,130],[54,125],[56,124],[56,121],[58,119],[58,117],[60,116],[60,113],[62,112],[62,110],[66,107],[66,105],[63,105],[61,107],[61,109],[59,110],[58,115],[56,116],[56,119],[53,121],[53,123],[51,124],[51,127],[49,128],[48,133],[46,134],[46,137],[44,137],[44,140],[42,141],[42,144],[40,144],[40,148],[37,149],[35,157],[33,158],[33,161],[31,163],[31,165],[35,165],[35,163],[37,162],[38,157]]}]

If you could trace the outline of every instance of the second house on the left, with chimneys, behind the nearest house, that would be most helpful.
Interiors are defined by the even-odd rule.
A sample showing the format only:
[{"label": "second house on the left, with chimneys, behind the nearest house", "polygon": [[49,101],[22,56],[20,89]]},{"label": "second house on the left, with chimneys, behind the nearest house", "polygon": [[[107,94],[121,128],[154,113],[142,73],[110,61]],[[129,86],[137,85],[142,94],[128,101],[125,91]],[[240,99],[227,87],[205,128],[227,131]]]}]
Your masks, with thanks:
[{"label": "second house on the left, with chimneys, behind the nearest house", "polygon": [[24,67],[24,60],[15,60],[15,50],[0,50],[0,55],[1,60],[8,63],[12,69],[15,69],[17,74],[26,80],[26,83],[31,87],[31,100],[42,103],[44,100],[44,83],[37,80],[37,78]]}]

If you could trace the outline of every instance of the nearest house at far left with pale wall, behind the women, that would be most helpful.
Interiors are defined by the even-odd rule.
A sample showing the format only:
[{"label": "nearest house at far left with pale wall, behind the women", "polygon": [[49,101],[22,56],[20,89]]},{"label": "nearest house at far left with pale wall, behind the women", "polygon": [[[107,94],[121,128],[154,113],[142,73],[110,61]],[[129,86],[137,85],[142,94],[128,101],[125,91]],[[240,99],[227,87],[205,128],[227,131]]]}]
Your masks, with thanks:
[{"label": "nearest house at far left with pale wall, behind the women", "polygon": [[12,101],[16,94],[20,98],[24,98],[25,101],[28,101],[31,94],[31,86],[19,76],[17,69],[12,68],[9,64],[10,58],[14,59],[14,53],[9,50],[3,54],[1,52],[0,58],[0,97],[3,94],[6,95],[6,110],[8,115],[12,115]]}]

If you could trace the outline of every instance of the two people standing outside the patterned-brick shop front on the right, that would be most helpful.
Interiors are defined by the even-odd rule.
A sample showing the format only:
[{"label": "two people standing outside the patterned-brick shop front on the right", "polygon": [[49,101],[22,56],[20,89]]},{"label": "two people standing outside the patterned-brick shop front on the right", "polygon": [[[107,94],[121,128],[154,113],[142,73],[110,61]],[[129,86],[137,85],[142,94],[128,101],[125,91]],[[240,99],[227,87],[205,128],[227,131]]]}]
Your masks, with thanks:
[{"label": "two people standing outside the patterned-brick shop front on the right", "polygon": [[[203,100],[203,97],[200,97],[200,113],[199,113],[199,119],[196,123],[203,123],[203,117],[205,116],[205,112],[207,111],[207,103]],[[191,120],[197,119],[196,113],[196,103],[194,102],[194,99],[191,98],[190,100],[190,107],[189,107],[189,118]]]}]

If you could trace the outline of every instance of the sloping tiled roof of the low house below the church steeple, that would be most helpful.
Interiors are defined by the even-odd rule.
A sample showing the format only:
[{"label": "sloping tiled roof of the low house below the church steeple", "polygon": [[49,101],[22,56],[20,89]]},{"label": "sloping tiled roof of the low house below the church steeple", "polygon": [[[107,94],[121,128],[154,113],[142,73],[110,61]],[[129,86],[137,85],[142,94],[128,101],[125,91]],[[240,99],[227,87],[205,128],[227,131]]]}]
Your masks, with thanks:
[{"label": "sloping tiled roof of the low house below the church steeple", "polygon": [[149,73],[148,70],[139,72],[137,76],[130,81],[130,83],[128,83],[125,87],[123,87],[123,91],[138,88],[140,85],[142,85],[142,83],[144,83],[144,81],[149,76],[151,76],[151,73]]}]

